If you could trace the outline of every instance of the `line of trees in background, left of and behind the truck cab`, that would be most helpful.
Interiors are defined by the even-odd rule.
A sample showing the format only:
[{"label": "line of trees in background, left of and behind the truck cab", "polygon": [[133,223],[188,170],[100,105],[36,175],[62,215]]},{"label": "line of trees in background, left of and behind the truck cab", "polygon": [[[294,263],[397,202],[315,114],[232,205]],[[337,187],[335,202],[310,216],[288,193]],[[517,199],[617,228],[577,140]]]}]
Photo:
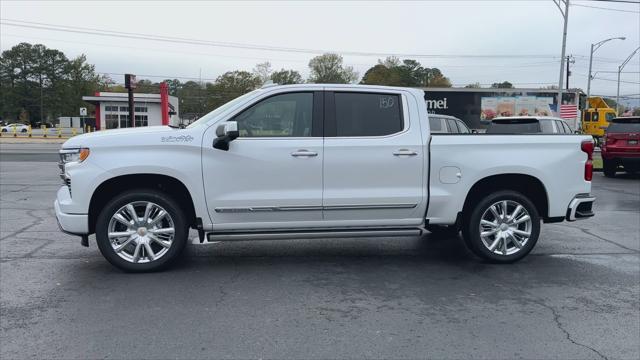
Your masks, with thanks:
[{"label": "line of trees in background, left of and behind the truck cab", "polygon": [[[166,79],[171,95],[180,99],[180,113],[198,117],[225,102],[272,81],[277,84],[358,82],[359,74],[338,54],[323,54],[309,61],[309,77],[292,69],[274,70],[269,62],[251,71],[228,71],[213,82]],[[362,84],[395,86],[451,86],[436,68],[415,60],[387,58],[366,71]],[[159,82],[141,79],[140,93],[158,93]],[[96,71],[85,55],[68,58],[42,44],[20,43],[0,55],[0,120],[37,125],[59,116],[74,116],[85,103],[82,96],[97,91],[126,91],[107,75]]]}]

